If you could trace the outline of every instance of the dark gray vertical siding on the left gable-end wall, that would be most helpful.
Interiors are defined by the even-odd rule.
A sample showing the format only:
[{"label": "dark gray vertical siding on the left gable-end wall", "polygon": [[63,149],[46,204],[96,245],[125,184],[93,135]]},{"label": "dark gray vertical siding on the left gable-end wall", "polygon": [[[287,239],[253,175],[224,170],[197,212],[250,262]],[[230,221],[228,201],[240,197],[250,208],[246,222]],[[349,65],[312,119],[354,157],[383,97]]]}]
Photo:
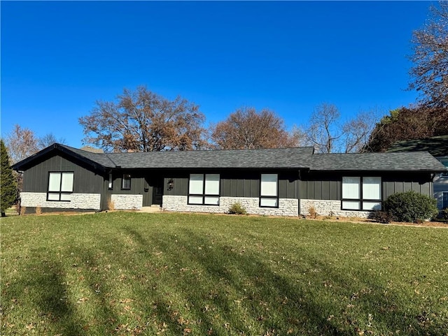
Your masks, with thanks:
[{"label": "dark gray vertical siding on the left gable-end wall", "polygon": [[76,162],[70,157],[59,155],[49,156],[25,170],[23,173],[22,191],[46,193],[48,191],[48,172],[73,171],[73,193],[101,193],[103,176],[82,162]]}]

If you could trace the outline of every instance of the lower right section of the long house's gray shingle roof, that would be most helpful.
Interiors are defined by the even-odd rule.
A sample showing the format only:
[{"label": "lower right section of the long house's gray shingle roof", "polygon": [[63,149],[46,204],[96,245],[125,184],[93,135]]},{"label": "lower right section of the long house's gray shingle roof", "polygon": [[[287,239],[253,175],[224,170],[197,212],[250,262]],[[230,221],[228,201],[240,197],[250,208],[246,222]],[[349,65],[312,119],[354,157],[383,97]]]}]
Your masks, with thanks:
[{"label": "lower right section of the long house's gray shingle roof", "polygon": [[315,154],[311,170],[420,170],[444,171],[428,152]]}]

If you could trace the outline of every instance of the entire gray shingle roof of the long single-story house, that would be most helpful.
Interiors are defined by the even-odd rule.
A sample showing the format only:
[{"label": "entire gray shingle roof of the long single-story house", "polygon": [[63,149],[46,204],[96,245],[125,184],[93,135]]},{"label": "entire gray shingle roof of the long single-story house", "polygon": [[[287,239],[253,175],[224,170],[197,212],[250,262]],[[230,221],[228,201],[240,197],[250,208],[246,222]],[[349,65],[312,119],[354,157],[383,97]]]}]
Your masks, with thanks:
[{"label": "entire gray shingle roof of the long single-story house", "polygon": [[15,170],[24,170],[34,160],[52,150],[59,150],[107,170],[123,169],[310,169],[310,170],[419,170],[446,171],[442,163],[428,152],[314,154],[312,147],[276,149],[240,149],[188,152],[92,153],[66,145],[54,144],[29,158],[15,163]]}]

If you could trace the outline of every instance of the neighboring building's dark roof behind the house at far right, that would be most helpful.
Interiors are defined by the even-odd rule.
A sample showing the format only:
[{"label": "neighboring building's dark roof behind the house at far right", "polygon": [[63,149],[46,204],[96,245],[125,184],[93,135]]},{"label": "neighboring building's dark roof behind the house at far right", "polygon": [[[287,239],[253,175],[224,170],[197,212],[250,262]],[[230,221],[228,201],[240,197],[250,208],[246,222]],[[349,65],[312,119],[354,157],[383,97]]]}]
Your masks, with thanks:
[{"label": "neighboring building's dark roof behind the house at far right", "polygon": [[397,141],[393,143],[388,153],[392,152],[430,152],[433,156],[448,156],[448,135],[447,136],[433,136],[426,139],[414,139]]}]

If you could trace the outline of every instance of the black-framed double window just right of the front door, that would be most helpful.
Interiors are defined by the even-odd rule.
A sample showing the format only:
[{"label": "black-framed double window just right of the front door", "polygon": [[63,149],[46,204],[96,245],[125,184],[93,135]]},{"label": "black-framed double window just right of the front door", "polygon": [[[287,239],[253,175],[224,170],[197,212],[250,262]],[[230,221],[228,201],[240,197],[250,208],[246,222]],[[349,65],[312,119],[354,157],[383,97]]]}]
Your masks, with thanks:
[{"label": "black-framed double window just right of the front door", "polygon": [[219,174],[190,174],[188,204],[219,205]]}]

